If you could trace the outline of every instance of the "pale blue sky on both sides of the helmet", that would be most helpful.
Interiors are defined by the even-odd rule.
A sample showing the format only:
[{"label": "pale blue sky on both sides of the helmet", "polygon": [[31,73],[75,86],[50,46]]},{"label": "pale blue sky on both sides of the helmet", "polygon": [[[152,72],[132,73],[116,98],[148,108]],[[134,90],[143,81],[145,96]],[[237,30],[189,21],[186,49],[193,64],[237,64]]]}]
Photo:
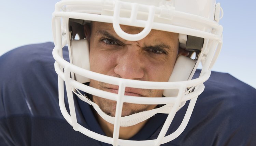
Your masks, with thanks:
[{"label": "pale blue sky on both sides of the helmet", "polygon": [[[0,55],[18,46],[53,41],[51,18],[58,0],[6,0],[0,9]],[[213,71],[256,88],[256,1],[216,0],[224,17],[224,44]]]}]

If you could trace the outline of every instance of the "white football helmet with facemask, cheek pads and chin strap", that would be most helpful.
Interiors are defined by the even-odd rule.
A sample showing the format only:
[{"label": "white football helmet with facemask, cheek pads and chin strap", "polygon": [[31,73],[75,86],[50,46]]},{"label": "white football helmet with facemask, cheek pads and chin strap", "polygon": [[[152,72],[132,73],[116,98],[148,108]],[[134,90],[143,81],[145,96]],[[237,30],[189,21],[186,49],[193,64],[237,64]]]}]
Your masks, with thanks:
[{"label": "white football helmet with facemask, cheek pads and chin strap", "polygon": [[[218,21],[222,15],[222,8],[219,3],[215,3],[215,0],[62,0],[56,3],[52,19],[55,44],[53,57],[56,60],[59,105],[63,116],[74,130],[115,146],[160,145],[172,141],[185,129],[197,97],[204,90],[203,83],[210,77],[210,70],[221,50],[223,27]],[[83,25],[91,21],[112,23],[116,34],[128,41],[141,40],[152,29],[178,33],[180,47],[191,53],[189,57],[177,58],[169,82],[137,81],[92,72],[89,62],[89,42],[83,33]],[[144,29],[138,34],[128,34],[120,28],[120,25]],[[62,48],[65,45],[69,48],[70,62],[64,60],[62,56]],[[200,63],[202,68],[200,76],[192,79]],[[90,79],[118,86],[118,94],[83,84],[90,82]],[[70,114],[64,103],[64,82]],[[124,94],[126,87],[161,89],[164,90],[165,97],[126,96]],[[115,117],[106,115],[97,104],[84,97],[80,91],[116,101]],[[113,137],[90,131],[77,122],[73,94],[92,105],[104,120],[114,124]],[[166,136],[176,112],[188,100],[190,102],[180,127]],[[163,106],[121,117],[124,102]],[[168,114],[157,139],[144,141],[119,139],[120,126],[135,125],[157,113]]]}]

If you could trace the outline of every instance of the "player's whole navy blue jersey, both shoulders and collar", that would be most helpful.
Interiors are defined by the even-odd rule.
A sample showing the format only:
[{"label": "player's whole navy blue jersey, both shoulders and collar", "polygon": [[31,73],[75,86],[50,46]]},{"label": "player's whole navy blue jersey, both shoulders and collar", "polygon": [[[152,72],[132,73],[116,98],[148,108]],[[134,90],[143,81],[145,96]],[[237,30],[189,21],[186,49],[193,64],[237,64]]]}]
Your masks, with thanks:
[{"label": "player's whole navy blue jersey, both shoulders and collar", "polygon": [[[0,57],[0,146],[110,146],[74,131],[63,118],[53,47],[50,42],[27,45]],[[63,50],[66,60],[67,50]],[[255,146],[256,89],[219,72],[212,72],[204,85],[186,129],[163,145]],[[180,125],[187,106],[188,102],[175,115],[169,134]],[[87,103],[76,98],[75,107],[82,126],[105,135]],[[150,118],[131,140],[155,139],[166,116]]]}]

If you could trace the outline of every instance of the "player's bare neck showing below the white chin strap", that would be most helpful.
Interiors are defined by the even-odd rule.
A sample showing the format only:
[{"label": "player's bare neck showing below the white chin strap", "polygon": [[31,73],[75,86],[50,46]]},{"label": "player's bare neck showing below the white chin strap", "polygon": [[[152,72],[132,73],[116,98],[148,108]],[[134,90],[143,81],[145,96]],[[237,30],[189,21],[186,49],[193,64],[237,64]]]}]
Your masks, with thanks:
[{"label": "player's bare neck showing below the white chin strap", "polygon": [[[98,118],[100,127],[102,128],[102,130],[106,134],[106,136],[113,137],[114,125],[105,121],[97,112],[95,114]],[[140,129],[145,125],[146,122],[147,122],[147,120],[142,121],[133,126],[120,127],[119,138],[123,139],[123,140],[128,140],[129,138],[134,136],[136,133],[138,133],[140,131]]]}]

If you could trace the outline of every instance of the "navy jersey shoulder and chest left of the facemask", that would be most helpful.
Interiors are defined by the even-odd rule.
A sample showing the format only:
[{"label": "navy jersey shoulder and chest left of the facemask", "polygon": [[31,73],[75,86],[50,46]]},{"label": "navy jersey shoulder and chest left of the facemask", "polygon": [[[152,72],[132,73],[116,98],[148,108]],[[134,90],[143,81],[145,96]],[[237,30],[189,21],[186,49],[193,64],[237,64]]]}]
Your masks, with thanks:
[{"label": "navy jersey shoulder and chest left of the facemask", "polygon": [[[53,43],[32,44],[0,57],[0,145],[99,145],[73,130],[58,101]],[[68,60],[67,47],[63,56]]]}]

